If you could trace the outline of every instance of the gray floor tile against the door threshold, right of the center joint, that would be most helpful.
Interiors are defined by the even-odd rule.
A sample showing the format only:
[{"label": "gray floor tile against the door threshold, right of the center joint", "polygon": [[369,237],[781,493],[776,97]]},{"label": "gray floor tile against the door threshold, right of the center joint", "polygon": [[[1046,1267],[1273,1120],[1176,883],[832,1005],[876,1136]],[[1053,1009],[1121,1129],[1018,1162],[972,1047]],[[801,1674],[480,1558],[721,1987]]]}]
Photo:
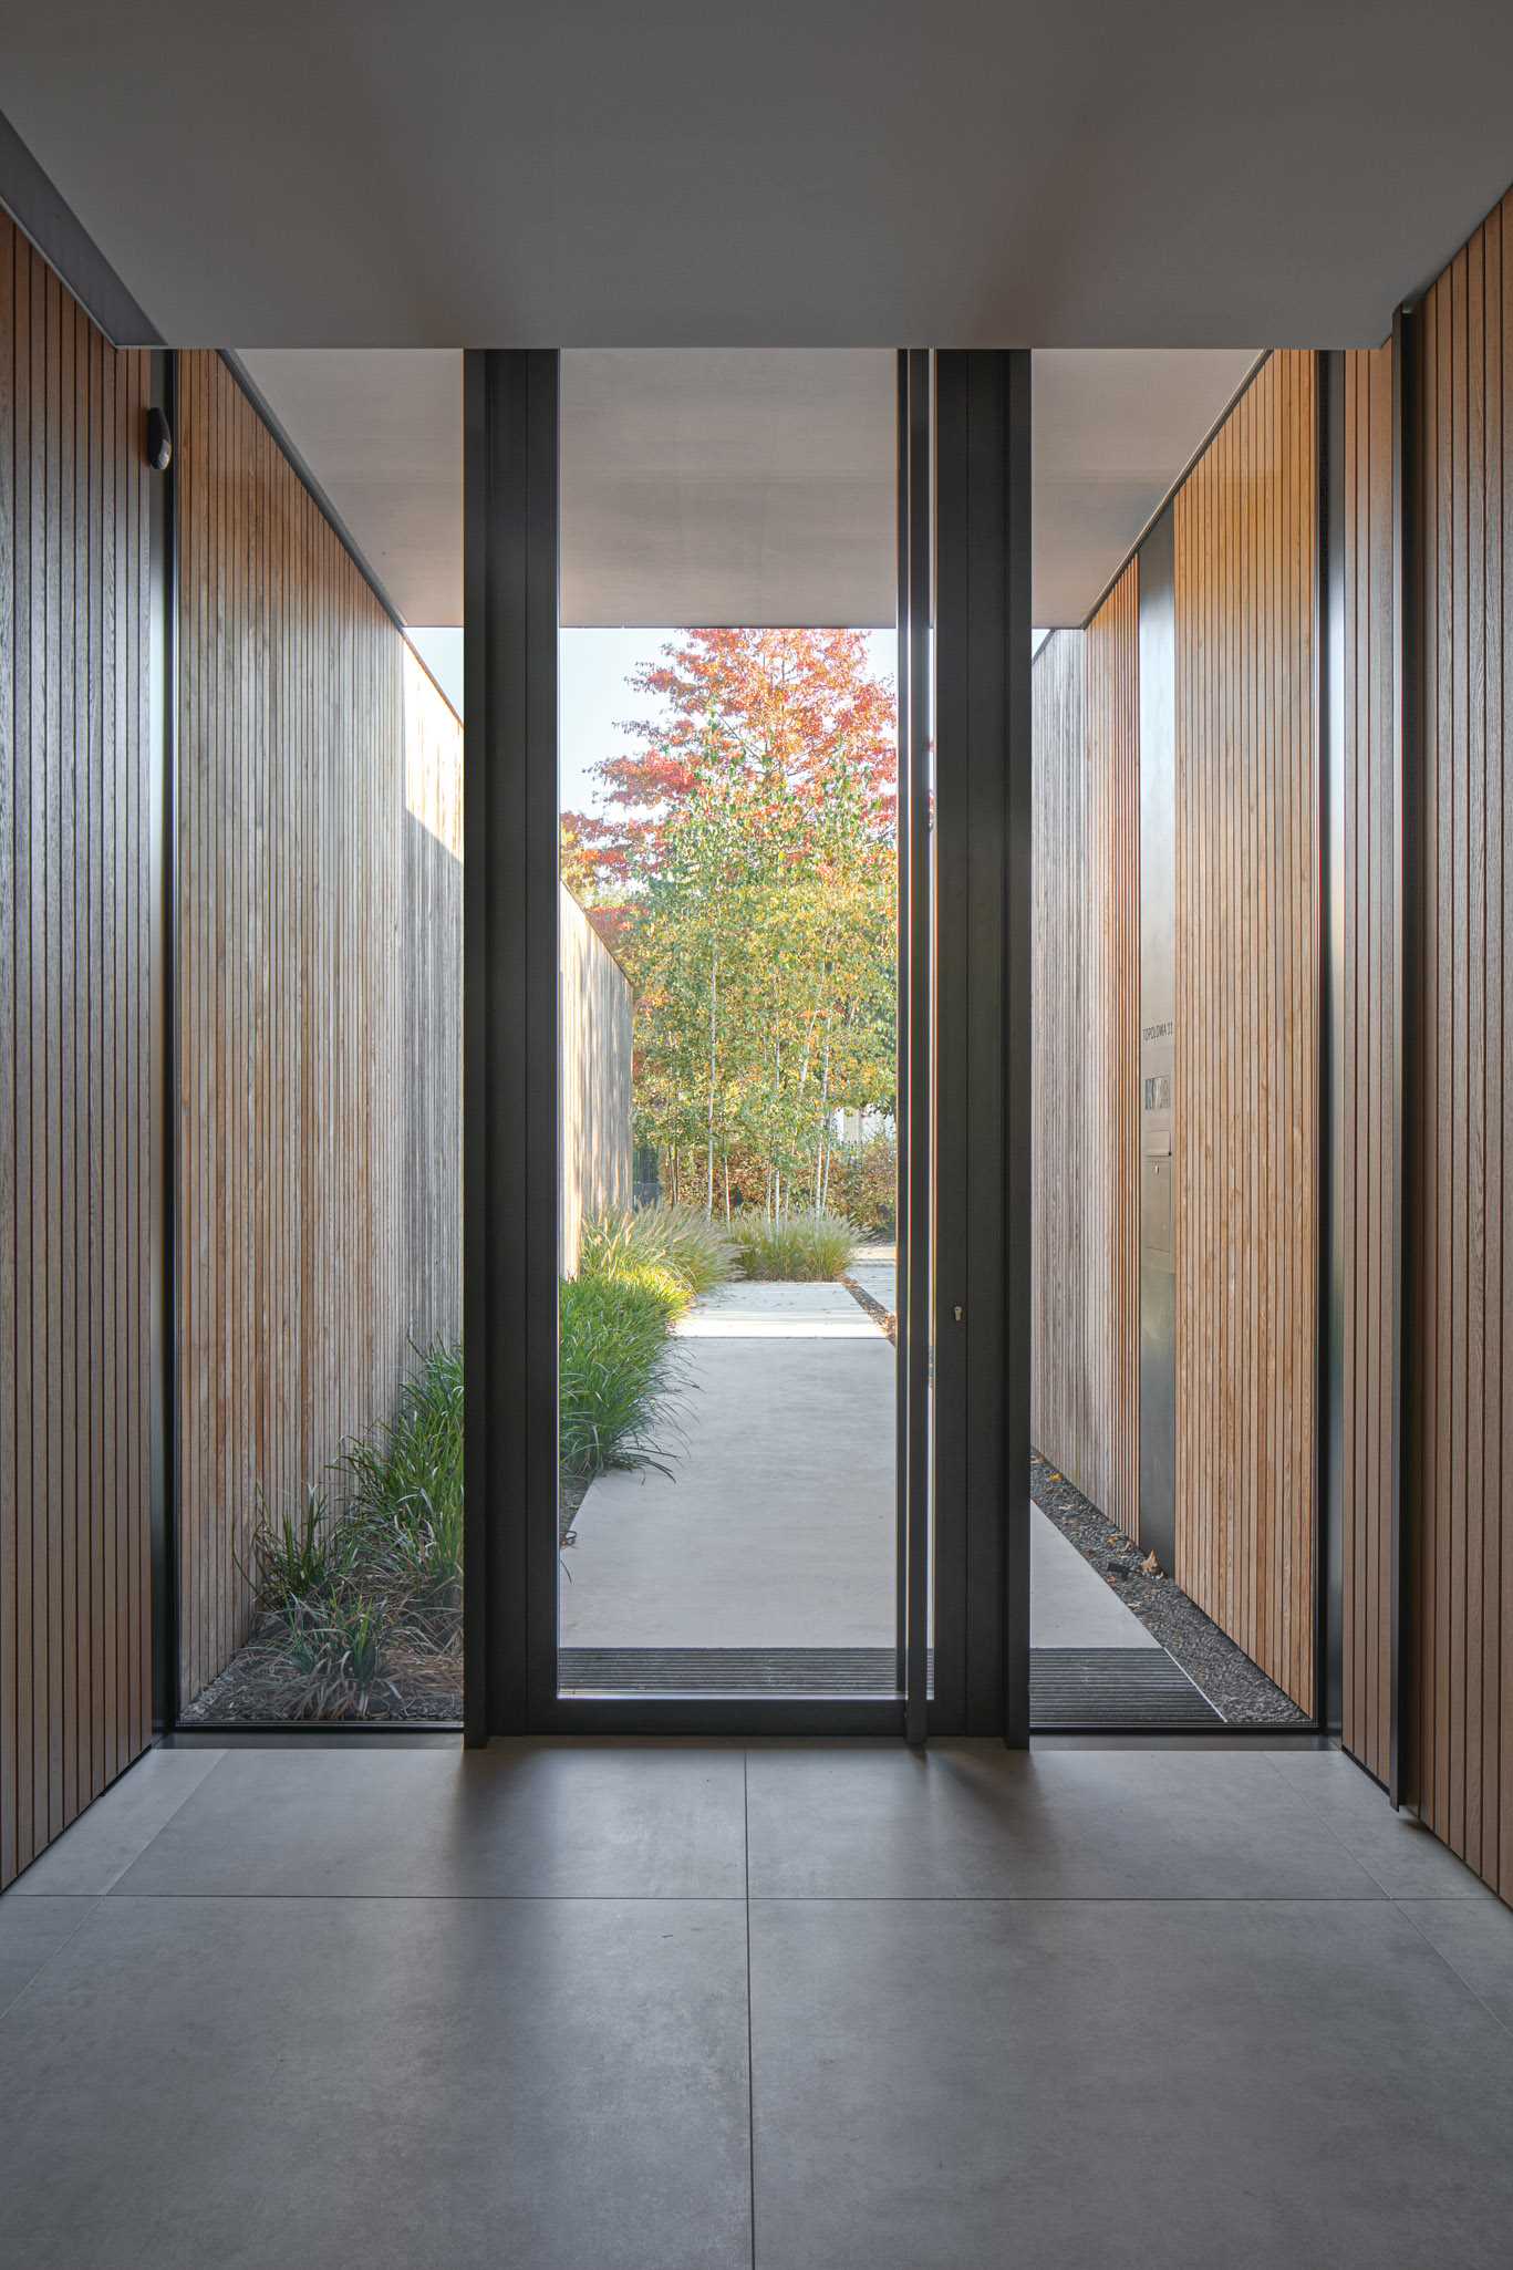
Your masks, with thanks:
[{"label": "gray floor tile against the door threshold, right of the center joint", "polygon": [[1379,1898],[1245,1752],[767,1748],[749,1762],[749,1825],[764,1898]]}]

